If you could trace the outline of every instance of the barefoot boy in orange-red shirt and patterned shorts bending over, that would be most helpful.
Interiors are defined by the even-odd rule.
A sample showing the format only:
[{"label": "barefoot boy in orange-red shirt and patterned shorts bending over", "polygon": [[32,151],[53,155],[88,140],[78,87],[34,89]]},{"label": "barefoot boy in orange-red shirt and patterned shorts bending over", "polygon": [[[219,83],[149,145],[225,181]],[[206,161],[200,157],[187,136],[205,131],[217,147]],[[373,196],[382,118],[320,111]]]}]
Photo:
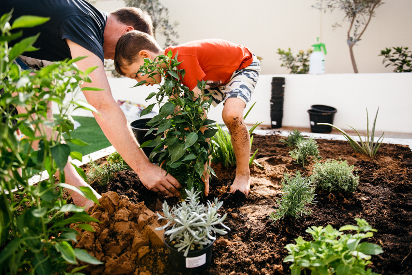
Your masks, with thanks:
[{"label": "barefoot boy in orange-red shirt and patterned shorts bending over", "polygon": [[[136,74],[144,64],[143,58],[155,60],[160,54],[167,55],[169,50],[173,58],[182,62],[179,69],[186,71],[183,84],[195,94],[200,95],[197,81],[206,81],[205,93],[213,93],[212,105],[223,102],[222,118],[229,129],[233,150],[236,156],[236,178],[230,192],[236,190],[249,194],[251,185],[249,159],[250,136],[243,121],[243,110],[251,100],[256,85],[260,62],[246,47],[232,42],[207,39],[197,40],[160,49],[155,39],[143,32],[130,31],[117,42],[114,56],[116,71],[136,81],[147,81],[146,85],[161,82],[160,75],[155,80],[147,75]],[[205,194],[208,194],[208,177],[205,182]]]}]

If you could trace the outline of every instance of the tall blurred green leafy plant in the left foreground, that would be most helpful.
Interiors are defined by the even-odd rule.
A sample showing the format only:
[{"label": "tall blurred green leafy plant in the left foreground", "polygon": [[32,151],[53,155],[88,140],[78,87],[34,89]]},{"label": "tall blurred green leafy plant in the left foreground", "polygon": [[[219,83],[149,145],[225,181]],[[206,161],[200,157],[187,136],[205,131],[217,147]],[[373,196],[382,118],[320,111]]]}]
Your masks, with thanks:
[{"label": "tall blurred green leafy plant in the left foreground", "polygon": [[[0,89],[4,88],[4,94],[0,96],[0,273],[64,274],[67,265],[77,264],[78,259],[91,264],[101,263],[85,250],[73,249],[70,244],[77,241],[78,233],[67,225],[73,223],[90,230],[81,223],[98,221],[83,208],[66,204],[63,188],[97,204],[98,201],[90,188],[78,189],[64,183],[63,168],[69,156],[81,161],[82,155],[72,152],[63,143],[61,135],[67,133],[66,142],[85,144],[71,137],[74,121],[69,108],[74,106],[74,109],[96,112],[87,102],[75,99],[81,91],[80,84],[91,82],[88,74],[95,67],[79,71],[74,64],[79,58],[58,62],[36,72],[22,72],[14,61],[22,53],[36,50],[32,45],[39,34],[22,39],[13,47],[8,43],[22,35],[22,31],[16,32],[16,29],[40,25],[48,18],[20,16],[10,25],[11,17],[12,12],[0,17]],[[66,76],[66,73],[71,74]],[[84,87],[82,90],[96,89]],[[74,96],[66,97],[69,92]],[[58,107],[54,109],[54,120],[47,117],[50,101]],[[10,112],[15,106],[24,108],[25,112]],[[17,121],[16,125],[13,121]],[[48,138],[46,127],[51,129],[51,136],[57,136],[56,140]],[[16,135],[17,128],[26,136],[22,141]],[[39,149],[32,151],[31,146],[36,142]],[[23,150],[24,144],[30,146]],[[50,179],[37,186],[30,185],[31,168],[47,170]],[[83,172],[79,167],[75,168]],[[55,185],[52,175],[57,171],[60,183]],[[68,211],[75,214],[64,219]]]}]

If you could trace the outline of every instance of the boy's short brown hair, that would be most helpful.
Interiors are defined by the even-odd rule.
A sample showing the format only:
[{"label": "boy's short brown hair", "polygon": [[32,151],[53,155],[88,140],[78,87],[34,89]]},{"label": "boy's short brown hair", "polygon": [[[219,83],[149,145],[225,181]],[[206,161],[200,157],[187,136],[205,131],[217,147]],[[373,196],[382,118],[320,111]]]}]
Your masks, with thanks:
[{"label": "boy's short brown hair", "polygon": [[122,76],[125,75],[122,68],[139,60],[141,50],[149,50],[154,53],[161,51],[158,43],[147,33],[129,31],[123,34],[117,41],[114,53],[114,68]]}]

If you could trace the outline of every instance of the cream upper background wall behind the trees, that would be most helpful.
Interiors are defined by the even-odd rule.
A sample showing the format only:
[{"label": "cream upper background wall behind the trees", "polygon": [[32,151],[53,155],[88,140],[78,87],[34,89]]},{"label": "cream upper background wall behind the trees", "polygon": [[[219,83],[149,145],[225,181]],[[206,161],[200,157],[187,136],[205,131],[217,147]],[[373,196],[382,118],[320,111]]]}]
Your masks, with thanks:
[{"label": "cream upper background wall behind the trees", "polygon": [[[311,8],[316,0],[160,0],[169,9],[171,22],[178,21],[179,43],[221,38],[252,49],[263,57],[262,74],[288,74],[280,67],[278,48],[298,52],[311,48],[320,36],[326,44],[326,73],[353,73],[346,43],[348,22],[333,30],[344,13],[321,13]],[[360,73],[392,72],[378,56],[386,47],[412,49],[412,0],[385,0],[354,47]],[[111,11],[124,6],[122,0],[98,0],[95,6]],[[160,46],[164,39],[157,37]]]}]

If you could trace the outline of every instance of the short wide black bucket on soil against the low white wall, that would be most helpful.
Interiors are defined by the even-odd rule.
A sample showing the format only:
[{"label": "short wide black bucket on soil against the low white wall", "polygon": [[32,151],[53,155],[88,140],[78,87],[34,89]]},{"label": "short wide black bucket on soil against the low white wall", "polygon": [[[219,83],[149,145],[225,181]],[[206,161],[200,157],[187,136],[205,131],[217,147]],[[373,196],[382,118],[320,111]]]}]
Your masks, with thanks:
[{"label": "short wide black bucket on soil against the low white wall", "polygon": [[326,105],[312,105],[311,110],[308,110],[310,120],[310,130],[313,133],[330,133],[332,126],[317,125],[317,123],[333,124],[333,117],[337,110]]}]

